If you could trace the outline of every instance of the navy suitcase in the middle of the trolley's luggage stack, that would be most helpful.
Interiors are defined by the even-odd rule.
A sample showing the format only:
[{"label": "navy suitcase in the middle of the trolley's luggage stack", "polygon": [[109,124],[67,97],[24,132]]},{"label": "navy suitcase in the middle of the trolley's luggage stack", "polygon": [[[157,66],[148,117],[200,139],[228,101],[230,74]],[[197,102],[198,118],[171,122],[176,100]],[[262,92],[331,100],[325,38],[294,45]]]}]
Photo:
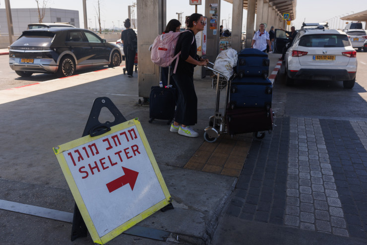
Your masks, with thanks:
[{"label": "navy suitcase in the middle of the trolley's luggage stack", "polygon": [[273,85],[261,77],[235,78],[230,87],[230,109],[239,107],[271,108]]}]

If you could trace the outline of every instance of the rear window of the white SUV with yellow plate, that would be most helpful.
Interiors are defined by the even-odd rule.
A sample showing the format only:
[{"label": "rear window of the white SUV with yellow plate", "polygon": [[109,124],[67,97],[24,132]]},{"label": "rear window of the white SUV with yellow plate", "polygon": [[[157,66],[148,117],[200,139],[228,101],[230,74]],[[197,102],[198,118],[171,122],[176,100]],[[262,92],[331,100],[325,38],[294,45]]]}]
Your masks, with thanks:
[{"label": "rear window of the white SUV with yellow plate", "polygon": [[346,47],[350,45],[346,35],[338,34],[305,35],[301,38],[299,43],[299,46],[312,48]]}]

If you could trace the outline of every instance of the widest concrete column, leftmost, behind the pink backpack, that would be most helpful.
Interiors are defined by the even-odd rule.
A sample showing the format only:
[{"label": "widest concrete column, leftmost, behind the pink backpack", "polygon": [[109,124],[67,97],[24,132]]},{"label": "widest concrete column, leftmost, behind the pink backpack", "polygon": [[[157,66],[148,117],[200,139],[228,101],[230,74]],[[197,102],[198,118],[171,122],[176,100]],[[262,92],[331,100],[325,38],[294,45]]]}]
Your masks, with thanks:
[{"label": "widest concrete column, leftmost, behind the pink backpack", "polygon": [[[138,95],[149,98],[152,86],[158,86],[159,67],[150,60],[149,46],[166,28],[166,0],[136,0],[138,36]],[[150,23],[147,25],[146,23]],[[136,73],[134,73],[135,75]]]}]

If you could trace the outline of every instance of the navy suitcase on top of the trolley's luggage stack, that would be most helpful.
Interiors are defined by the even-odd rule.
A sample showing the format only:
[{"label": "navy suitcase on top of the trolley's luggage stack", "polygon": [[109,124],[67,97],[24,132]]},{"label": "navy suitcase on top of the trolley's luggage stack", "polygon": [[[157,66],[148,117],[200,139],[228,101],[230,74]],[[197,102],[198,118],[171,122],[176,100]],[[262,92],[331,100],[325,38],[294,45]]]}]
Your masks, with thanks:
[{"label": "navy suitcase on top of the trolley's luggage stack", "polygon": [[270,60],[268,55],[258,49],[243,49],[238,52],[237,76],[259,76],[264,79],[269,75]]}]

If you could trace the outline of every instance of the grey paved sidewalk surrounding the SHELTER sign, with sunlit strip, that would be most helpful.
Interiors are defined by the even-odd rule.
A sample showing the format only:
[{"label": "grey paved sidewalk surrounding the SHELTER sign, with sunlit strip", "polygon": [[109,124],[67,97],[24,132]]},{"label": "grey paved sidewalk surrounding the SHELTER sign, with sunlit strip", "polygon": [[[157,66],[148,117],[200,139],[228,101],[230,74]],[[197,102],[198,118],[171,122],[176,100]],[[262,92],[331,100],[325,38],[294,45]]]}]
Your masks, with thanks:
[{"label": "grey paved sidewalk surrounding the SHELTER sign, with sunlit strip", "polygon": [[[270,55],[271,70],[278,55]],[[73,212],[74,200],[52,147],[81,136],[92,102],[107,96],[126,119],[138,117],[163,178],[174,210],[157,212],[138,226],[168,231],[166,243],[209,244],[237,183],[236,177],[185,169],[203,144],[203,128],[214,113],[211,79],[195,79],[200,99],[198,138],[169,131],[165,121],[148,123],[149,108],[136,106],[137,76],[122,75],[122,67],[0,90],[0,200]],[[268,135],[265,137],[268,138]],[[250,138],[239,144],[248,150]],[[245,148],[246,147],[246,148]],[[220,149],[218,149],[220,150]],[[225,173],[224,173],[225,174]],[[71,224],[0,209],[1,244],[91,244],[91,238],[70,242]],[[170,242],[171,241],[171,242]],[[177,241],[176,241],[177,242]],[[162,244],[120,235],[109,244]]]}]

